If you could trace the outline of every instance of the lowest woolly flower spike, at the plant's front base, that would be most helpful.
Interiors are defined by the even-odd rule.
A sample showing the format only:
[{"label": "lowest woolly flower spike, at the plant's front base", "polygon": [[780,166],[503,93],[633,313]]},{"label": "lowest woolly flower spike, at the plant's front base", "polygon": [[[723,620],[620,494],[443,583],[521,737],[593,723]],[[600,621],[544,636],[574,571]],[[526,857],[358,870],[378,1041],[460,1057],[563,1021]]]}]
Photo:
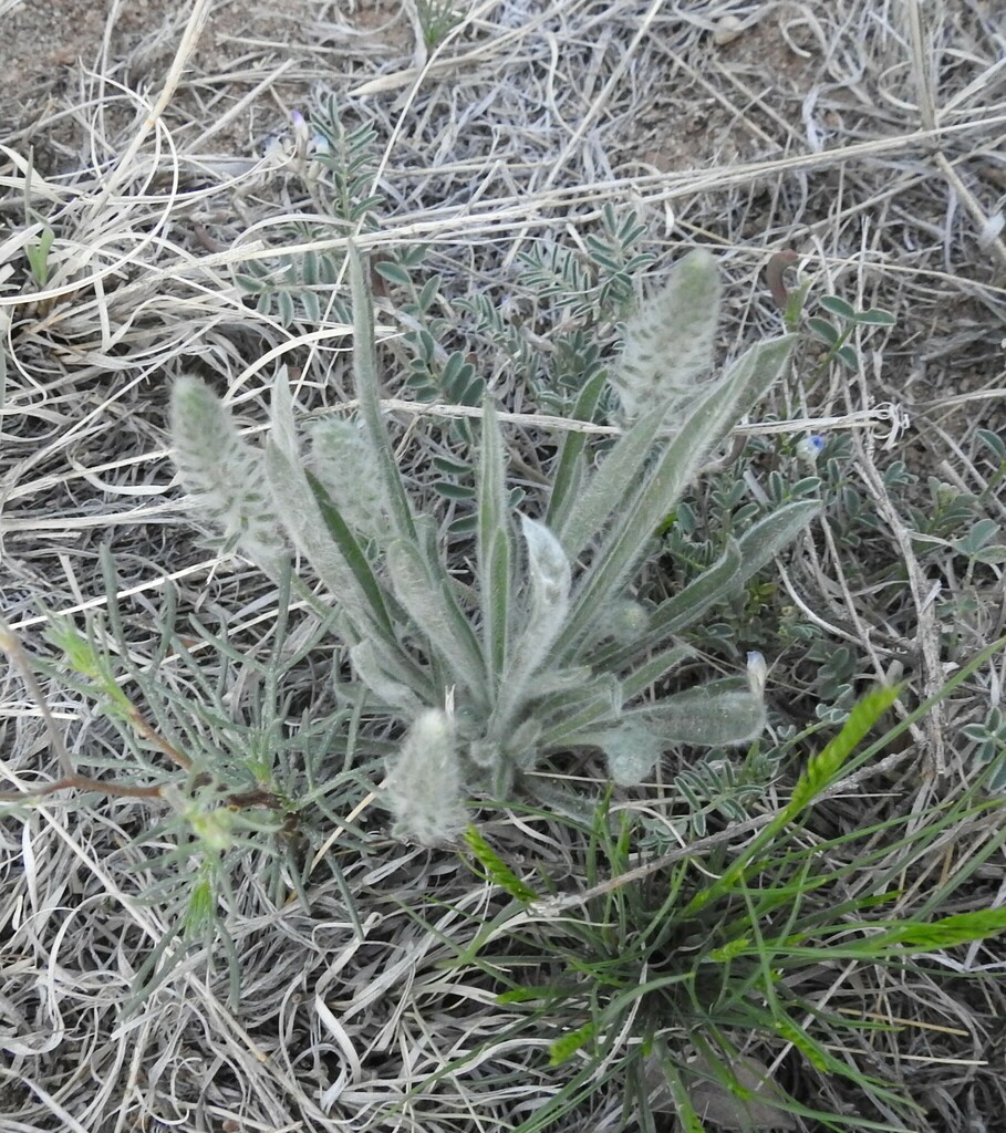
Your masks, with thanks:
[{"label": "lowest woolly flower spike, at the plant's front base", "polygon": [[464,829],[458,740],[447,713],[424,712],[389,770],[385,799],[395,816],[397,837],[409,834],[424,845],[436,845]]}]

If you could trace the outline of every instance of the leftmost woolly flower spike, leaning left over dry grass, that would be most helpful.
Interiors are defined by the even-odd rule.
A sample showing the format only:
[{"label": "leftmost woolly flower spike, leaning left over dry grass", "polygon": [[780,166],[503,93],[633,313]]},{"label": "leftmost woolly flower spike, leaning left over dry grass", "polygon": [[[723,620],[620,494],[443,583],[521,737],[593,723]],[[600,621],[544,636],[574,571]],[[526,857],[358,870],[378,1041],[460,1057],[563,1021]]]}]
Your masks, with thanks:
[{"label": "leftmost woolly flower spike, leaning left over dry grass", "polygon": [[228,409],[197,377],[179,377],[171,391],[171,440],[182,487],[224,545],[278,578],[288,555],[263,455],[245,444]]}]

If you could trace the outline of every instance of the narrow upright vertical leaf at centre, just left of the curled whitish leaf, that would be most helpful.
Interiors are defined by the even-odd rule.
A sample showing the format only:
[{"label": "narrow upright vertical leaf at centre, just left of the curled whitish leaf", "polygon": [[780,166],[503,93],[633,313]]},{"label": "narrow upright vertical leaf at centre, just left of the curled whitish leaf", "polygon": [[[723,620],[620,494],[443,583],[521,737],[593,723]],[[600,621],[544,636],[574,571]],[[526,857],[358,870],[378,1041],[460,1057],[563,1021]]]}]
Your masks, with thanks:
[{"label": "narrow upright vertical leaf at centre, just left of the curled whitish leaf", "polygon": [[478,585],[485,671],[494,697],[506,666],[511,604],[511,527],[503,435],[495,407],[486,402],[478,468]]}]

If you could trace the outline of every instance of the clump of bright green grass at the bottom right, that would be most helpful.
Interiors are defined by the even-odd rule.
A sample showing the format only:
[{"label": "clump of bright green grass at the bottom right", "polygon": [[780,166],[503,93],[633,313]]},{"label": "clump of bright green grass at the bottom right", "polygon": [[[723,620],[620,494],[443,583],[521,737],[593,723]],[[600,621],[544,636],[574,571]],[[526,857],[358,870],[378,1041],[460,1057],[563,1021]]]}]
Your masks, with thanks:
[{"label": "clump of bright green grass at the bottom right", "polygon": [[[988,787],[998,770],[924,816],[817,833],[816,808],[836,784],[854,782],[859,768],[928,709],[921,706],[864,747],[898,691],[863,698],[805,760],[777,811],[662,857],[642,849],[646,826],[631,806],[616,810],[608,795],[588,825],[571,830],[571,844],[582,846],[581,892],[557,892],[534,858],[511,868],[469,830],[474,866],[500,900],[481,923],[469,921],[467,944],[455,934],[449,943],[454,959],[441,966],[464,987],[495,994],[500,1039],[443,1074],[463,1079],[467,1060],[483,1065],[496,1041],[510,1047],[521,1037],[551,1037],[547,1054],[528,1071],[551,1085],[532,1115],[514,1124],[519,1133],[569,1127],[599,1097],[611,1097],[615,1083],[619,1128],[660,1128],[668,1111],[690,1133],[799,1128],[801,1122],[827,1130],[917,1127],[921,1107],[869,1056],[871,1042],[900,1024],[861,1010],[860,991],[881,971],[897,981],[930,955],[1006,929],[1003,909],[980,898],[962,906],[969,879],[1000,852],[1006,833],[999,829],[921,906],[904,902],[905,887],[947,832],[996,825],[1001,800]],[[792,759],[805,746],[802,738],[785,755]],[[423,912],[412,915],[421,921]],[[859,989],[855,1010],[846,1007],[846,985]],[[783,1076],[787,1051],[801,1068]],[[786,1080],[804,1083],[801,1097]],[[854,1106],[821,1108],[805,1084],[815,1080],[830,1082]],[[427,1088],[436,1083],[418,1092]]]}]

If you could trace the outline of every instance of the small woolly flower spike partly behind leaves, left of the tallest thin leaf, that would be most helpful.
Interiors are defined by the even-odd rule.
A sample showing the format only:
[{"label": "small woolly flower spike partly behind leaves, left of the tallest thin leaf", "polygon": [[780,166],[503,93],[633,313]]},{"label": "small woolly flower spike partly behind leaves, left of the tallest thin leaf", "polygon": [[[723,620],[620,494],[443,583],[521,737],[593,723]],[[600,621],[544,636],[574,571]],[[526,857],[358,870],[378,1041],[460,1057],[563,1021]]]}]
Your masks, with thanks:
[{"label": "small woolly flower spike partly behind leaves, left of the tallest thin leaf", "polygon": [[359,426],[330,417],[310,433],[310,470],[357,535],[387,531],[387,501],[374,445]]}]

